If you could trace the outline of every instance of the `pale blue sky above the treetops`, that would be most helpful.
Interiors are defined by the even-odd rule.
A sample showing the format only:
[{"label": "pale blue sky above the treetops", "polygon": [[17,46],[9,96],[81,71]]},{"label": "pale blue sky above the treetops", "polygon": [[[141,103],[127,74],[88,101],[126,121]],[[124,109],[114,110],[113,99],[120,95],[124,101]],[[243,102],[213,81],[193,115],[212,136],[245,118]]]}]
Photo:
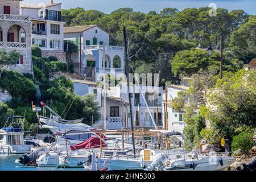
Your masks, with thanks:
[{"label": "pale blue sky above the treetops", "polygon": [[[48,3],[50,0],[24,0],[24,3]],[[120,7],[131,7],[135,11],[147,13],[154,10],[160,12],[164,7],[176,7],[183,10],[187,7],[204,7],[216,3],[217,7],[228,10],[242,9],[248,14],[256,15],[255,0],[53,0],[62,2],[63,9],[83,7],[85,10],[99,10],[110,13]]]}]

